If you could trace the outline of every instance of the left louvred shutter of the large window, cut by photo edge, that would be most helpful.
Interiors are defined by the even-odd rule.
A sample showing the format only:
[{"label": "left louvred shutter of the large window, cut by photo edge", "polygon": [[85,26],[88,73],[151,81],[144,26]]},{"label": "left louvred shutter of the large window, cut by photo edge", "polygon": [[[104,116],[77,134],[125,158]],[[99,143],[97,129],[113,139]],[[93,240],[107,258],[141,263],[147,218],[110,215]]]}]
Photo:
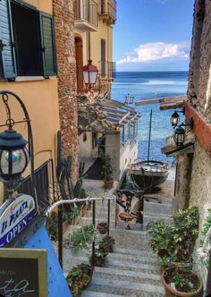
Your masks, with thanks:
[{"label": "left louvred shutter of the large window, cut by photo edge", "polygon": [[17,76],[13,27],[11,23],[10,1],[0,1],[0,57],[4,79],[14,79]]}]

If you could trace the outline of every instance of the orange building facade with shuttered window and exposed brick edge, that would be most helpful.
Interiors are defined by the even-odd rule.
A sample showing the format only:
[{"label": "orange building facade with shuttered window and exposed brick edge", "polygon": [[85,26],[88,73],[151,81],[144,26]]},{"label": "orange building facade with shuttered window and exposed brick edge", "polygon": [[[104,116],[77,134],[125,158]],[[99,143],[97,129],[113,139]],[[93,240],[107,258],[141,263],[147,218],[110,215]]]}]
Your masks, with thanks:
[{"label": "orange building facade with shuttered window and exposed brick edge", "polygon": [[[52,182],[49,164],[54,164],[55,169],[58,131],[62,132],[63,156],[72,155],[75,180],[78,110],[73,1],[4,0],[0,2],[0,10],[0,89],[17,94],[28,110],[35,170],[37,176],[44,174],[42,180],[47,181],[41,188]],[[6,114],[4,105],[0,104],[4,123]],[[21,121],[24,115],[20,106],[15,100],[10,105],[14,121]],[[25,123],[16,124],[15,130],[27,138]],[[30,169],[24,174],[28,176]]]}]

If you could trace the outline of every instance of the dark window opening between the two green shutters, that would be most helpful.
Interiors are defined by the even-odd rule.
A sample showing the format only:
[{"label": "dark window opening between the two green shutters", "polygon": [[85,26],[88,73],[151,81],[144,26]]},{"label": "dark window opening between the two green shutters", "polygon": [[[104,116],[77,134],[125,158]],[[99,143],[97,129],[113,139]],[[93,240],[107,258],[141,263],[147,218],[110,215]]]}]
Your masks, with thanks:
[{"label": "dark window opening between the two green shutters", "polygon": [[17,74],[42,75],[39,13],[14,2],[11,3],[11,13]]}]

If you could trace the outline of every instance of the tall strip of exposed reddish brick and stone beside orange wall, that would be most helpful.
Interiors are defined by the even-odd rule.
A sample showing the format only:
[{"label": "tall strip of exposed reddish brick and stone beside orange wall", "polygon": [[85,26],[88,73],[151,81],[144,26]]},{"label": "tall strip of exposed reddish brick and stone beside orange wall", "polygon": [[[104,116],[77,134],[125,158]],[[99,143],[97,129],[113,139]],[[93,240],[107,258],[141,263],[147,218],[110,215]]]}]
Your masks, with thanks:
[{"label": "tall strip of exposed reddish brick and stone beside orange wall", "polygon": [[78,173],[79,144],[73,0],[53,0],[53,11],[63,156],[72,155],[72,179],[75,181]]}]

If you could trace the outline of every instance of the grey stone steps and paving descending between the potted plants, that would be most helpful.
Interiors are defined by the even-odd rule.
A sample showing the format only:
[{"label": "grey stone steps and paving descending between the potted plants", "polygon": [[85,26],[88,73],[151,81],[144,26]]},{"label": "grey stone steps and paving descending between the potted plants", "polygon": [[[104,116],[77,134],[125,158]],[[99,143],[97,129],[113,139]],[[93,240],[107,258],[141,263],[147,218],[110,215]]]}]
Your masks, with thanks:
[{"label": "grey stone steps and paving descending between the potted plants", "polygon": [[[169,221],[172,213],[174,185],[174,170],[170,171],[168,180],[160,186],[156,193],[148,196],[144,203],[144,228],[146,222],[163,219]],[[114,189],[105,191],[102,181],[85,180],[84,187],[90,197],[114,197]],[[158,203],[157,199],[162,199]],[[96,216],[101,220],[107,217],[107,200],[102,206],[96,202]],[[160,267],[155,254],[148,247],[148,233],[142,231],[139,224],[131,224],[131,230],[126,230],[126,224],[117,219],[115,221],[116,206],[111,202],[111,230],[115,238],[114,253],[110,253],[105,267],[95,267],[89,288],[82,293],[82,297],[158,297],[165,296],[160,282]],[[82,218],[80,224],[91,224],[91,211]],[[66,234],[70,232],[70,227]],[[64,234],[64,236],[66,235]],[[97,235],[100,238],[101,235]],[[63,271],[67,274],[70,267],[81,262],[88,262],[90,251],[80,251],[77,257],[70,254],[70,250],[63,249]]]}]

